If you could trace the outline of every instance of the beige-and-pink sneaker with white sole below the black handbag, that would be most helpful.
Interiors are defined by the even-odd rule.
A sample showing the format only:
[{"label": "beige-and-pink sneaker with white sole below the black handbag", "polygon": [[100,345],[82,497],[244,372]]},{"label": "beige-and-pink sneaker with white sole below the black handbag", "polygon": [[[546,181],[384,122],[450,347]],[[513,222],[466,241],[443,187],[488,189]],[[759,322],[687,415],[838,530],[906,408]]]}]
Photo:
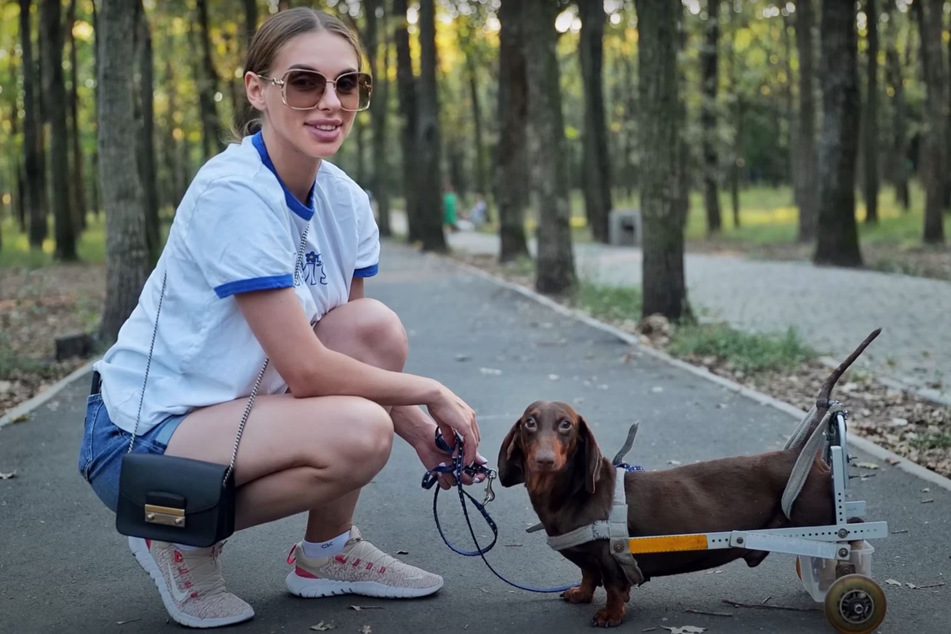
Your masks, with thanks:
[{"label": "beige-and-pink sneaker with white sole below the black handbag", "polygon": [[172,620],[187,627],[221,627],[254,616],[250,605],[225,590],[218,557],[224,542],[179,550],[174,544],[129,538],[129,548],[149,573]]}]

